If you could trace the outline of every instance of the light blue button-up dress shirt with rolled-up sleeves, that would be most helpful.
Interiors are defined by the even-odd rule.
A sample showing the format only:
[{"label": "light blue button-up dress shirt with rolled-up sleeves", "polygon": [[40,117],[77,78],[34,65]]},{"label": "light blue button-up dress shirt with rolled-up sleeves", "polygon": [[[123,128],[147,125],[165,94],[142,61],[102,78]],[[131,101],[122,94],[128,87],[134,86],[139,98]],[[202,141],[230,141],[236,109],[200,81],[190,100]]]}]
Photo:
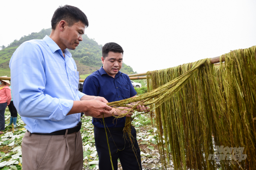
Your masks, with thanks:
[{"label": "light blue button-up dress shirt with rolled-up sleeves", "polygon": [[12,94],[25,128],[31,133],[51,133],[73,128],[80,113],[67,115],[78,91],[79,73],[68,50],[63,51],[49,37],[26,41],[12,55]]}]

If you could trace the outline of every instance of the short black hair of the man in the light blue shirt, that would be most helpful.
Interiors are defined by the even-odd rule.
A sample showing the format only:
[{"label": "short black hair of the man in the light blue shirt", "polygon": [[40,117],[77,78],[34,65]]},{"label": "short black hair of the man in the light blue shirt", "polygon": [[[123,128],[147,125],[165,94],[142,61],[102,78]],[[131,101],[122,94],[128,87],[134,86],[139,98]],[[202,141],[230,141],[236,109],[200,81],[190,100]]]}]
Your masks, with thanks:
[{"label": "short black hair of the man in the light blue shirt", "polygon": [[56,9],[51,21],[53,30],[56,29],[57,23],[59,23],[61,20],[66,21],[69,27],[73,26],[73,24],[79,21],[84,23],[85,27],[89,26],[87,17],[84,12],[75,6],[64,5],[59,6],[59,8]]}]

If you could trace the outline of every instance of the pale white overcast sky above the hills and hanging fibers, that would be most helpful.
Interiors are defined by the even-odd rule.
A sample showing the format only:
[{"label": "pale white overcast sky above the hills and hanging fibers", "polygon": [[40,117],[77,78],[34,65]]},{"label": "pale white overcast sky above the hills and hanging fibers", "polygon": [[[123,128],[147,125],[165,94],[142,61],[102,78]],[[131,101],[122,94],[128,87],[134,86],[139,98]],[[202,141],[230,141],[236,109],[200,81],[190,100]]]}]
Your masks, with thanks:
[{"label": "pale white overcast sky above the hills and hanging fibers", "polygon": [[89,38],[121,45],[138,73],[256,45],[255,0],[1,0],[0,46],[50,28],[66,4],[87,15]]}]

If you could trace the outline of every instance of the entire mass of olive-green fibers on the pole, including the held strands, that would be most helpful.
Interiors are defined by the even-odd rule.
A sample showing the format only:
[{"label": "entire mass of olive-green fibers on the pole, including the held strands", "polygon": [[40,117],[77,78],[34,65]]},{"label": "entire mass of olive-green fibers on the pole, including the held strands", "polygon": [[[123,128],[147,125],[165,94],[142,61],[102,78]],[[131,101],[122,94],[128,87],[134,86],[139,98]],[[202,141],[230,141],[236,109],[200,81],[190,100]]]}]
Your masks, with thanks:
[{"label": "entire mass of olive-green fibers on the pole, including the held strands", "polygon": [[[172,156],[178,170],[215,169],[215,145],[222,170],[256,169],[255,51],[253,46],[224,54],[218,66],[203,59],[147,72],[148,93],[108,105],[150,106],[164,167]],[[125,132],[133,119],[126,121]],[[247,158],[241,160],[241,154]]]}]

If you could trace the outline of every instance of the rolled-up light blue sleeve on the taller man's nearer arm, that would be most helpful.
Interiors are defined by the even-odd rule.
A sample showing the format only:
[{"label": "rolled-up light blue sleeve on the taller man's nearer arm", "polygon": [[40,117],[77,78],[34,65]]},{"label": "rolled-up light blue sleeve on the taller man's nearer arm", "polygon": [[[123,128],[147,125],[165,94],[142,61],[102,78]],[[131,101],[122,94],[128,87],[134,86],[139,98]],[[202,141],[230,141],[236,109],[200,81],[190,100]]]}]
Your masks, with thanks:
[{"label": "rolled-up light blue sleeve on the taller man's nearer arm", "polygon": [[73,101],[44,94],[46,85],[44,55],[37,44],[20,45],[10,61],[14,105],[20,116],[61,121]]}]

